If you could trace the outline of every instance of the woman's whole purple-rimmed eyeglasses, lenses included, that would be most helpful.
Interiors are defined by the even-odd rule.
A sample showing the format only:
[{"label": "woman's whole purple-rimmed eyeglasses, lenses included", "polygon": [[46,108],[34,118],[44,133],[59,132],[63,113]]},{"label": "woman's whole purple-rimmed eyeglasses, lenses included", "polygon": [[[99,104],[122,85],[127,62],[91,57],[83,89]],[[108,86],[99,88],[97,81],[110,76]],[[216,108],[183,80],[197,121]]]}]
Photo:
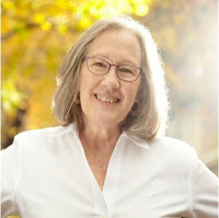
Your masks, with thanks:
[{"label": "woman's whole purple-rimmed eyeglasses, lenses included", "polygon": [[106,60],[95,57],[85,57],[84,60],[87,60],[87,67],[89,71],[94,74],[106,74],[110,71],[111,67],[115,66],[118,78],[127,82],[132,82],[137,80],[142,71],[138,67],[128,65],[123,65],[123,66],[111,65]]}]

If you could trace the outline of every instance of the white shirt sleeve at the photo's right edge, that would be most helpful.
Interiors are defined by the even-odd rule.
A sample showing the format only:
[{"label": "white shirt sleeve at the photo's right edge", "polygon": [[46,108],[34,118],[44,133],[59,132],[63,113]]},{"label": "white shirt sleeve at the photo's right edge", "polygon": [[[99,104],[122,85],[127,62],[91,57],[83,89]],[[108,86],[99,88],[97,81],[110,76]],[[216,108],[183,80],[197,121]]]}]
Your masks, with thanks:
[{"label": "white shirt sleeve at the photo's right edge", "polygon": [[197,158],[192,169],[194,218],[218,217],[218,177]]}]

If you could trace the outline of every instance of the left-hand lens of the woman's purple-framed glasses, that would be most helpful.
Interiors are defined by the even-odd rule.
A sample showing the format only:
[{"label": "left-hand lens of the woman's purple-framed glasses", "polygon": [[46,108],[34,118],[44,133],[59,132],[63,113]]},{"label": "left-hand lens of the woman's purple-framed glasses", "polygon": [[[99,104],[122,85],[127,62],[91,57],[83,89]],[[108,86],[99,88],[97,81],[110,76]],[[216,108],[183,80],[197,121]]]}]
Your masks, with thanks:
[{"label": "left-hand lens of the woman's purple-framed glasses", "polygon": [[110,65],[100,58],[88,58],[88,68],[93,73],[104,74],[107,72]]}]

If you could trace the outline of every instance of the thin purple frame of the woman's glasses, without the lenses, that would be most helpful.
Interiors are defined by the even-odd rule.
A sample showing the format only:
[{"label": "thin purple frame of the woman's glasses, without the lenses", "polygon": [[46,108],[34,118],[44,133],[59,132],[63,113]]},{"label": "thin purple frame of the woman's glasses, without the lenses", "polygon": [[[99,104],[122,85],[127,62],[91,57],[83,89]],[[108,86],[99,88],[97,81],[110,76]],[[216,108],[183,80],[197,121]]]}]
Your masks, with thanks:
[{"label": "thin purple frame of the woman's glasses, without the lenses", "polygon": [[[100,74],[100,76],[106,74],[106,73],[111,70],[111,67],[114,66],[114,67],[116,67],[116,74],[117,74],[117,77],[118,77],[119,79],[122,79],[122,80],[124,80],[124,81],[126,81],[126,82],[134,82],[134,81],[136,81],[136,80],[139,78],[139,76],[140,76],[140,74],[142,73],[142,71],[143,71],[141,68],[136,67],[136,66],[130,66],[130,65],[119,65],[119,66],[117,66],[117,65],[112,65],[111,62],[108,62],[107,60],[104,60],[104,59],[102,59],[102,58],[96,58],[96,59],[100,59],[100,60],[103,60],[103,61],[107,62],[110,67],[108,67],[107,71],[104,72],[104,73],[95,73],[95,72],[93,72],[93,71],[91,71],[91,70],[89,69],[89,64],[88,64],[88,61],[89,61],[90,58],[96,58],[96,57],[84,57],[83,60],[85,60],[85,62],[87,62],[87,68],[88,68],[88,70],[89,70],[90,72],[92,72],[93,74]],[[117,70],[117,68],[119,68],[119,67],[122,67],[122,66],[128,66],[128,67],[138,68],[138,69],[139,69],[139,74],[135,78],[135,80],[125,80],[125,79],[123,79],[123,78],[119,77],[118,70]]]}]

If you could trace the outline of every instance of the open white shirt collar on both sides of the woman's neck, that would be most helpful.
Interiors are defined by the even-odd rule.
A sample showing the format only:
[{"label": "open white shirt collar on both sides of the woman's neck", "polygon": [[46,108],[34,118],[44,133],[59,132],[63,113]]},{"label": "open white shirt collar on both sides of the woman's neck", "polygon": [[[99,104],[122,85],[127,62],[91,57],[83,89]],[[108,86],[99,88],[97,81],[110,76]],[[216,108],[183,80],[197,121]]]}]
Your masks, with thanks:
[{"label": "open white shirt collar on both sides of the woman's neck", "polygon": [[[78,127],[77,127],[76,123],[70,124],[68,126],[65,126],[65,133],[68,133],[68,131],[74,134],[79,138],[79,131],[78,131]],[[124,131],[120,135],[120,138],[127,138],[132,144],[135,144],[136,146],[138,146],[140,148],[143,148],[143,149],[147,149],[147,150],[150,148],[148,142],[145,139],[139,138],[139,137],[134,136],[134,135],[129,135],[127,131]]]}]

